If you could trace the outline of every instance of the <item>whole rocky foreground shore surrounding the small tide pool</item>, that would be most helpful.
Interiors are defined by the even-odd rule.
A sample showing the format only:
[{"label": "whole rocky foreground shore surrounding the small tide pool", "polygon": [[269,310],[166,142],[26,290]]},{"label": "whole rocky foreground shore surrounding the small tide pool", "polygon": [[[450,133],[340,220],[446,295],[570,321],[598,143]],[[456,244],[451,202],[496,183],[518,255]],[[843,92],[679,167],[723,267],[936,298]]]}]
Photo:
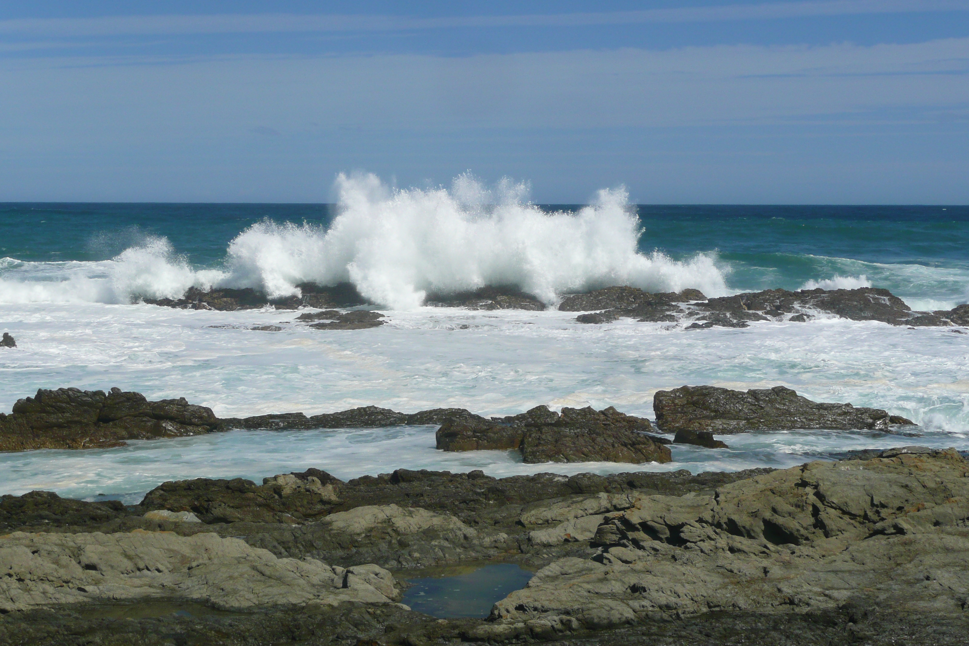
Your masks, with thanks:
[{"label": "whole rocky foreground shore surrounding the small tide pool", "polygon": [[[310,469],[166,482],[132,507],[3,496],[0,643],[964,643],[969,464],[852,457],[697,476]],[[408,571],[485,562],[536,574],[486,619],[399,604]]]}]

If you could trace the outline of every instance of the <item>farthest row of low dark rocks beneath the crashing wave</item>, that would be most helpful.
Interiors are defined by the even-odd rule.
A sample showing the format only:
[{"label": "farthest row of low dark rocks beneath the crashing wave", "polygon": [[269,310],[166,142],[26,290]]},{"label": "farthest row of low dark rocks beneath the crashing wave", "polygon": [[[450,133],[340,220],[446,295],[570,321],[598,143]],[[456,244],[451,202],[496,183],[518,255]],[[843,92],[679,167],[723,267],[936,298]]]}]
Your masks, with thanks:
[{"label": "farthest row of low dark rocks beneath the crashing wave", "polygon": [[[216,289],[203,292],[190,288],[182,298],[142,299],[141,302],[184,309],[235,311],[260,309],[267,306],[281,310],[302,307],[330,310],[331,323],[314,324],[320,329],[361,329],[376,327],[383,315],[366,322],[360,312],[338,312],[332,308],[375,306],[368,302],[349,283],[335,287],[321,287],[313,283],[297,286],[299,296],[268,298],[247,288],[244,290]],[[516,286],[488,286],[473,292],[428,294],[425,305],[434,307],[462,307],[470,310],[518,309],[542,311],[547,304]],[[682,292],[643,292],[634,287],[610,287],[593,292],[566,294],[557,309],[580,312],[578,323],[612,323],[619,319],[635,319],[649,323],[676,323],[684,329],[710,327],[748,327],[752,322],[803,323],[819,317],[839,317],[852,321],[878,321],[906,326],[969,326],[969,304],[952,310],[933,312],[914,311],[901,298],[888,290],[858,288],[854,290],[765,290],[740,293],[735,296],[707,298],[699,290]],[[340,317],[350,316],[343,321]],[[303,315],[297,321],[311,320],[318,315]],[[363,324],[369,323],[369,324]]]}]

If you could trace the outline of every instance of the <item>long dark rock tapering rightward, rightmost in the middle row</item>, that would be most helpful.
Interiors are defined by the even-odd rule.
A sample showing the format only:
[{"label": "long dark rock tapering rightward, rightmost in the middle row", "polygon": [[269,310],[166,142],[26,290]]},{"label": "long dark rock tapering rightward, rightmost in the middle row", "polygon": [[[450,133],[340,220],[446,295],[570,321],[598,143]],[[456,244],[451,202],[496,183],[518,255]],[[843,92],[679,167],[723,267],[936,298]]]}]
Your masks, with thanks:
[{"label": "long dark rock tapering rightward, rightmost in the middle row", "polygon": [[880,409],[851,404],[812,402],[782,385],[747,392],[712,385],[684,385],[659,390],[653,412],[660,430],[708,431],[717,434],[787,429],[886,430],[892,424],[912,424]]}]

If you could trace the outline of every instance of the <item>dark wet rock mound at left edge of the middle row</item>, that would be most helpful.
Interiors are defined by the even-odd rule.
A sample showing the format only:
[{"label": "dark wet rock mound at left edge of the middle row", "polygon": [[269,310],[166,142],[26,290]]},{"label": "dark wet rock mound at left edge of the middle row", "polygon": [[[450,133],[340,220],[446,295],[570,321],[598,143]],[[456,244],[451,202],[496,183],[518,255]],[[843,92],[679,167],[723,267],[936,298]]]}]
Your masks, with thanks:
[{"label": "dark wet rock mound at left edge of the middle row", "polygon": [[0,451],[34,448],[104,448],[125,440],[209,433],[219,420],[184,397],[150,402],[139,392],[111,388],[39,389],[0,414]]}]

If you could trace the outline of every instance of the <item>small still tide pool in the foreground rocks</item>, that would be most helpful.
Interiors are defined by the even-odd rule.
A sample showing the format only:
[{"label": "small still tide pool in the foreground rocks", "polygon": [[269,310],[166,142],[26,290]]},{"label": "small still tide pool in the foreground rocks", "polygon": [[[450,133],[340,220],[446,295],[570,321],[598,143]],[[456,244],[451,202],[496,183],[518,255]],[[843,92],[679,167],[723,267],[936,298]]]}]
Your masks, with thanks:
[{"label": "small still tide pool in the foreground rocks", "polygon": [[524,588],[532,573],[515,564],[484,566],[470,572],[408,579],[403,602],[432,617],[487,617],[495,601]]}]

